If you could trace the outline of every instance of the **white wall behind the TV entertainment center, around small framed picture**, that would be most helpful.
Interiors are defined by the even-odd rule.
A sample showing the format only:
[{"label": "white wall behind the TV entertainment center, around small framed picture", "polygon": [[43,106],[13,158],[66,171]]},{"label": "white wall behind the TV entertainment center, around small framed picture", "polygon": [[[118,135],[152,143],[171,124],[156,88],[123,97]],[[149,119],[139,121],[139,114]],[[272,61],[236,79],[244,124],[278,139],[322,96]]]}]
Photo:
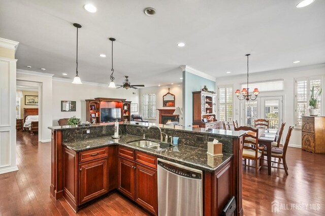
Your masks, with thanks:
[{"label": "white wall behind the TV entertainment center, around small framed picture", "polygon": [[[135,93],[135,94],[133,94]],[[138,103],[139,111],[139,90],[134,89],[109,89],[107,85],[86,83],[73,84],[71,81],[53,79],[53,125],[58,125],[58,119],[76,116],[86,121],[86,99],[94,98],[120,98]],[[61,112],[61,101],[76,101],[75,112]],[[138,114],[133,112],[131,114]]]}]

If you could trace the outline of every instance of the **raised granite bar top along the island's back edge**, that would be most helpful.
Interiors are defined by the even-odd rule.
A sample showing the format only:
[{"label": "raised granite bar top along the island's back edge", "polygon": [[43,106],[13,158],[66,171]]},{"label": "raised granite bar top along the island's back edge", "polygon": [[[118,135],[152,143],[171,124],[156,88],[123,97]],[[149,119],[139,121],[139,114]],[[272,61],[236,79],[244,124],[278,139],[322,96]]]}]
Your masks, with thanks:
[{"label": "raised granite bar top along the island's back edge", "polygon": [[[120,125],[135,125],[140,127],[148,127],[150,125],[157,125],[160,128],[165,129],[174,129],[175,131],[179,132],[188,132],[193,134],[213,134],[213,135],[220,135],[222,137],[229,137],[229,138],[239,138],[242,137],[245,132],[243,131],[231,131],[231,130],[224,130],[224,129],[206,129],[202,127],[190,127],[190,126],[180,126],[180,125],[166,125],[166,124],[156,124],[156,123],[148,123],[148,122],[137,122],[136,121],[126,121],[126,122],[119,122]],[[90,126],[78,126],[78,125],[64,125],[64,126],[50,126],[49,129],[53,131],[64,131],[69,129],[87,129],[92,127],[103,127],[103,126],[114,126],[114,122],[108,123],[96,123],[91,124]]]}]

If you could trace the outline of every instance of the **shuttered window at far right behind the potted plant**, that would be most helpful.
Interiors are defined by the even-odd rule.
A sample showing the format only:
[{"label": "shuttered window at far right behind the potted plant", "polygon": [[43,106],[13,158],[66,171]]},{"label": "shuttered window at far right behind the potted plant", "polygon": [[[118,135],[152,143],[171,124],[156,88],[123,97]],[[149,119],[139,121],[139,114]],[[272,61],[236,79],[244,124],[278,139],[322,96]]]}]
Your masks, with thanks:
[{"label": "shuttered window at far right behind the potted plant", "polygon": [[[298,78],[296,79],[296,126],[301,127],[302,116],[307,115],[307,108],[309,106],[310,89],[314,85],[315,89],[321,89],[321,78],[310,77],[310,78]],[[320,98],[318,108],[321,108]],[[321,109],[320,109],[321,110]]]}]

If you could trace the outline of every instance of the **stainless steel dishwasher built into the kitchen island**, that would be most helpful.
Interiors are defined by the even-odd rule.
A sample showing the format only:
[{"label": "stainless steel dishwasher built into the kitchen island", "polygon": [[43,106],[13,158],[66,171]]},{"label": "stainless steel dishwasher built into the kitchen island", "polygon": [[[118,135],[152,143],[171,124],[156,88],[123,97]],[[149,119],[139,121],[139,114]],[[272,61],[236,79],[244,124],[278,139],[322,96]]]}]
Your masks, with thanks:
[{"label": "stainless steel dishwasher built into the kitchen island", "polygon": [[203,172],[158,158],[158,215],[203,215]]}]

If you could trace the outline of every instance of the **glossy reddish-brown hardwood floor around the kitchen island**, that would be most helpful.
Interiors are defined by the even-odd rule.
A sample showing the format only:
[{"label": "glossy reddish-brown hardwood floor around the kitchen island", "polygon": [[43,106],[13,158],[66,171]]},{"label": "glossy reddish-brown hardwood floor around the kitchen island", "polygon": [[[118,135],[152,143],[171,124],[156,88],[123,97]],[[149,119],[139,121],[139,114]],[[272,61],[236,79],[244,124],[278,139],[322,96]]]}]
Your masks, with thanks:
[{"label": "glossy reddish-brown hardwood floor around the kitchen island", "polygon": [[[0,215],[76,215],[64,199],[49,195],[51,177],[50,143],[38,143],[37,135],[17,132],[19,171],[0,175]],[[288,148],[289,176],[284,170],[267,168],[254,177],[253,168],[243,168],[245,215],[325,215],[325,155]],[[307,209],[271,212],[272,201],[320,204],[318,211]],[[281,206],[284,206],[283,204]],[[316,205],[316,208],[318,205]],[[78,215],[149,215],[118,193],[109,194],[78,212]]]}]

